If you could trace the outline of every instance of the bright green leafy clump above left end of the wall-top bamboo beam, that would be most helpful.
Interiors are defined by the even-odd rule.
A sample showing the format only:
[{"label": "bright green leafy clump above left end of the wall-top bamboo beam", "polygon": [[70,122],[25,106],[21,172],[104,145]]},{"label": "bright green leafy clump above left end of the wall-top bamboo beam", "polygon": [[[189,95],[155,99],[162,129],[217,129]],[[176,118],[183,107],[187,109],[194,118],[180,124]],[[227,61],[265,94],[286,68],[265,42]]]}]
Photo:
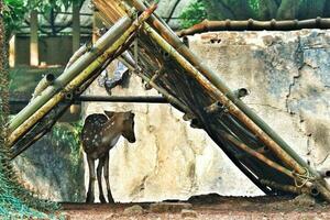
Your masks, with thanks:
[{"label": "bright green leafy clump above left end of the wall-top bamboo beam", "polygon": [[197,24],[207,18],[205,4],[200,1],[195,1],[189,4],[180,14],[183,19],[182,28],[189,28]]}]

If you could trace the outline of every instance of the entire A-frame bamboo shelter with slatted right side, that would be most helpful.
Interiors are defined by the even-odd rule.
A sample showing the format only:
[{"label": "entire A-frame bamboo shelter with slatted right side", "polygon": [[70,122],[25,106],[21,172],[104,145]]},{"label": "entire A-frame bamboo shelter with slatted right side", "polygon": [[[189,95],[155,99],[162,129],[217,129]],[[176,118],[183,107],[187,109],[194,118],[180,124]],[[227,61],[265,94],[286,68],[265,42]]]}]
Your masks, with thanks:
[{"label": "entire A-frame bamboo shelter with slatted right side", "polygon": [[[204,129],[229,158],[265,194],[310,194],[330,201],[323,176],[299,157],[141,0],[95,0],[112,28],[25,107],[10,124],[18,155],[56,119],[114,58],[158,90]],[[135,47],[130,47],[135,41]],[[138,44],[136,44],[138,43]],[[136,46],[138,45],[138,46]],[[125,51],[131,56],[128,56]],[[66,100],[65,105],[58,105]]]}]

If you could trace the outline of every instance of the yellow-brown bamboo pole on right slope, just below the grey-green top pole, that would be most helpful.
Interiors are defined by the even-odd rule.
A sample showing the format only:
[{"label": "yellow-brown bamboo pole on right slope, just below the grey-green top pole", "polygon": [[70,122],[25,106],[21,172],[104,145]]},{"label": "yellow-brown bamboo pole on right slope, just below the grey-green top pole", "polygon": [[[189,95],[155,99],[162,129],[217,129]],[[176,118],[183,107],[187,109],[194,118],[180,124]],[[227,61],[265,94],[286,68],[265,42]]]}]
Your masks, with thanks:
[{"label": "yellow-brown bamboo pole on right slope, just below the grey-green top pole", "polygon": [[[167,43],[155,30],[153,30],[147,23],[144,23],[144,31],[146,34],[153,38],[165,52],[167,52],[193,78],[195,78],[199,85],[208,91],[212,98],[219,100],[228,111],[237,117],[242,123],[244,123],[266,146],[272,150],[280,161],[293,168],[301,178],[307,186],[314,184],[309,183],[308,179],[314,179],[316,176],[306,170],[309,168],[308,165],[301,166],[295,158],[293,158],[286,151],[284,151],[268,134],[266,134],[257,124],[255,124],[241,109],[239,109],[233,101],[231,101],[227,96],[220,92],[200,72],[193,66],[183,55],[180,55],[172,45]],[[310,177],[311,175],[312,177]],[[324,183],[316,182],[319,191],[323,197],[330,201],[330,191],[323,186]]]}]

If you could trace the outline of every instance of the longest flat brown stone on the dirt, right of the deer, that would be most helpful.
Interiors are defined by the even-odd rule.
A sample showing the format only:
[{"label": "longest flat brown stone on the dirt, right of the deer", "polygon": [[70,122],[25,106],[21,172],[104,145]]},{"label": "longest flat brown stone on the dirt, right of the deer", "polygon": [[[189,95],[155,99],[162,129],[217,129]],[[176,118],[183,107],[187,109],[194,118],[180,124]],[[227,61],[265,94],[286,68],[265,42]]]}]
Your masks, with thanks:
[{"label": "longest flat brown stone on the dirt, right of the deer", "polygon": [[187,202],[157,202],[150,205],[152,212],[178,212],[191,208],[193,205]]}]

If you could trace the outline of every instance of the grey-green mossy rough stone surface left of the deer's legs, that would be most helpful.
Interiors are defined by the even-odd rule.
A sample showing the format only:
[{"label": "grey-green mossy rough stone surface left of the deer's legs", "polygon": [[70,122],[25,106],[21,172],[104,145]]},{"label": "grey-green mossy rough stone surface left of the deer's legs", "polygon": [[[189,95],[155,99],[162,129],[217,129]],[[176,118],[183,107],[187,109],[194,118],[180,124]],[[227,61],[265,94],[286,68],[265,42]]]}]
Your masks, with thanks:
[{"label": "grey-green mossy rough stone surface left of the deer's legs", "polygon": [[81,202],[85,200],[82,154],[73,155],[69,146],[51,135],[18,156],[14,168],[23,185],[41,198]]}]

